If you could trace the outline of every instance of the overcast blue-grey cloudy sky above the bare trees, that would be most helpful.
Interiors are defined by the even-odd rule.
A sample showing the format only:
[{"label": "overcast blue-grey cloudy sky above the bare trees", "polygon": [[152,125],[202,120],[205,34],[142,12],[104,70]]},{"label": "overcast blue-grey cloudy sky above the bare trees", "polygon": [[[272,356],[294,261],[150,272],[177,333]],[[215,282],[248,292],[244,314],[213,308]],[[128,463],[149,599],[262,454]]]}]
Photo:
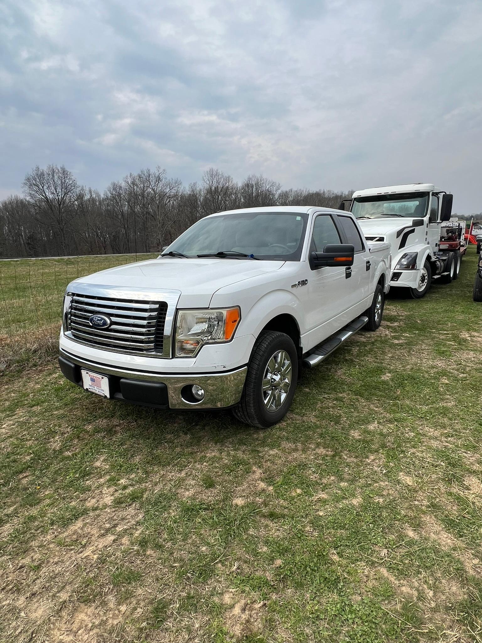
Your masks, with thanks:
[{"label": "overcast blue-grey cloudy sky above the bare trees", "polygon": [[213,166],[481,212],[481,34],[482,0],[2,0],[0,198]]}]

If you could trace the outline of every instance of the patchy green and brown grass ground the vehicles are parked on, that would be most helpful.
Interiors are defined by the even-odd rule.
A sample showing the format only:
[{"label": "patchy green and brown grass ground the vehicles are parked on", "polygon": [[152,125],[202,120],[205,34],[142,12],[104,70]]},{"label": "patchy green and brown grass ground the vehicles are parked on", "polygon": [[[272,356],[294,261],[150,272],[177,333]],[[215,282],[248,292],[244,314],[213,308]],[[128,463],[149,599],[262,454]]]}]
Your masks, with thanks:
[{"label": "patchy green and brown grass ground the vehicles are parked on", "polygon": [[256,431],[0,379],[0,640],[482,640],[473,248]]}]

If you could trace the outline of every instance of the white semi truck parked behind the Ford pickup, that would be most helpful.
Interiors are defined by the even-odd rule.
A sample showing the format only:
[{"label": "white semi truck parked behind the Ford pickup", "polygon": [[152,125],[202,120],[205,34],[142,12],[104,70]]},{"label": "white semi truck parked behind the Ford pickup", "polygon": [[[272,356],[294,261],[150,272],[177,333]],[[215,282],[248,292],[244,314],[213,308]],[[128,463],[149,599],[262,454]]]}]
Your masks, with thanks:
[{"label": "white semi truck parked behind the Ford pickup", "polygon": [[366,239],[391,245],[391,286],[420,298],[434,278],[458,277],[465,246],[449,229],[452,194],[432,183],[411,183],[357,190],[348,201]]}]

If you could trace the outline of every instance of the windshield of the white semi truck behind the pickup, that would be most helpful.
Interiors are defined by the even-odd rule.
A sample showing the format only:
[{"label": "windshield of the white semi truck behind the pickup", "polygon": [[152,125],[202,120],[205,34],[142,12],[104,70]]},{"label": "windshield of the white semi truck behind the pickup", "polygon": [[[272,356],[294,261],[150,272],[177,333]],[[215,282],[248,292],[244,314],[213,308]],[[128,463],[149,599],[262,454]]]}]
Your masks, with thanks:
[{"label": "windshield of the white semi truck behind the pickup", "polygon": [[379,219],[379,217],[425,217],[429,195],[380,194],[353,199],[352,214],[357,219]]}]

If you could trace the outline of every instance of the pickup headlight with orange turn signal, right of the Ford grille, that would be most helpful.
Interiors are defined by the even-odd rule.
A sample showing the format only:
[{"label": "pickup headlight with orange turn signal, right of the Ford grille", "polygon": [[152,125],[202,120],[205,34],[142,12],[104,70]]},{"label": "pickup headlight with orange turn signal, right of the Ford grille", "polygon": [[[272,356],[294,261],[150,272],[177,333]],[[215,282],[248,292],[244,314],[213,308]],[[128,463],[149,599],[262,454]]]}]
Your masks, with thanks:
[{"label": "pickup headlight with orange turn signal, right of the Ford grille", "polygon": [[231,340],[240,318],[238,307],[221,310],[177,311],[175,356],[178,358],[193,357],[203,344]]}]

